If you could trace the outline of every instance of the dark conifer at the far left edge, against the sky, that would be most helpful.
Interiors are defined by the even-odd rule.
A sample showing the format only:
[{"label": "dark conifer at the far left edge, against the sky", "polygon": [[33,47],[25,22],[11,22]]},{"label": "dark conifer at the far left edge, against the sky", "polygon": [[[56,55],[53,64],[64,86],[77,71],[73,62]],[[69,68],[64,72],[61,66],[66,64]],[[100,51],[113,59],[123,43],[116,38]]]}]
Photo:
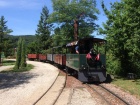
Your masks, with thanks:
[{"label": "dark conifer at the far left edge, against the sky", "polygon": [[1,64],[1,52],[3,49],[3,38],[4,35],[7,35],[12,32],[11,29],[8,29],[6,26],[7,21],[5,21],[4,16],[1,16],[0,18],[0,64]]}]

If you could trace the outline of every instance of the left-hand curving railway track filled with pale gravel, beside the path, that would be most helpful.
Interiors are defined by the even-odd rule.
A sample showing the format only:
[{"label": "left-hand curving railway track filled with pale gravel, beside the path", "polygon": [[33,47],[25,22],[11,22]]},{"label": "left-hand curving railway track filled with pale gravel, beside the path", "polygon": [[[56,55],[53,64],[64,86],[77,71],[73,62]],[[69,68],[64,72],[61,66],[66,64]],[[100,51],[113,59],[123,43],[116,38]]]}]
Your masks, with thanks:
[{"label": "left-hand curving railway track filled with pale gravel, beside the path", "polygon": [[33,105],[55,105],[66,85],[67,75],[61,72],[51,87]]}]

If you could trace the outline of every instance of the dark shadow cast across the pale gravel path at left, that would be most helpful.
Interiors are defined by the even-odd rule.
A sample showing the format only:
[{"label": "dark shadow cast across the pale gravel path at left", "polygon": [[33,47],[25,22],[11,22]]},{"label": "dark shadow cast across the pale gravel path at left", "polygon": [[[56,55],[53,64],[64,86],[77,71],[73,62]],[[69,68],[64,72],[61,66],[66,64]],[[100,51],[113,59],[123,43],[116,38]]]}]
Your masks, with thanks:
[{"label": "dark shadow cast across the pale gravel path at left", "polygon": [[36,74],[26,73],[0,73],[0,89],[16,87],[20,84],[29,83]]}]

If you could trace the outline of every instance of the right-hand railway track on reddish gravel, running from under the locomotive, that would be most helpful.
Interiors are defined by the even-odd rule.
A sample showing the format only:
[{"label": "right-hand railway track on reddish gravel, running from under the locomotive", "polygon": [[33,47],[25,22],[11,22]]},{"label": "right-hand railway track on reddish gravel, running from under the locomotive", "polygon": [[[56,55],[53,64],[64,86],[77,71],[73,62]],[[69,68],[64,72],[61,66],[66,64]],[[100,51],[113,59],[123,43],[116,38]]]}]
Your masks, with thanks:
[{"label": "right-hand railway track on reddish gravel, running from under the locomotive", "polygon": [[95,91],[108,105],[130,105],[128,102],[120,98],[115,93],[111,92],[109,89],[105,88],[102,85],[87,84],[93,91]]}]

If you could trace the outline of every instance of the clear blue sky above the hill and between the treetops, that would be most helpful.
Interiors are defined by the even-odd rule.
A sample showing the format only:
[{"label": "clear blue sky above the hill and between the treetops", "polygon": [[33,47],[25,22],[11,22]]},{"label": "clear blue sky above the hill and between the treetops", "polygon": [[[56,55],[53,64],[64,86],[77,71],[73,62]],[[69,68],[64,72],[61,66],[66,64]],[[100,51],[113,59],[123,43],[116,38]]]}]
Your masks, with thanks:
[{"label": "clear blue sky above the hill and between the treetops", "polygon": [[[120,0],[104,0],[106,7],[110,2]],[[0,17],[4,16],[6,25],[13,32],[11,35],[35,35],[40,20],[43,6],[47,6],[49,12],[53,11],[51,0],[0,0]],[[97,24],[107,20],[101,8],[101,0],[97,0],[97,8],[100,11]]]}]

